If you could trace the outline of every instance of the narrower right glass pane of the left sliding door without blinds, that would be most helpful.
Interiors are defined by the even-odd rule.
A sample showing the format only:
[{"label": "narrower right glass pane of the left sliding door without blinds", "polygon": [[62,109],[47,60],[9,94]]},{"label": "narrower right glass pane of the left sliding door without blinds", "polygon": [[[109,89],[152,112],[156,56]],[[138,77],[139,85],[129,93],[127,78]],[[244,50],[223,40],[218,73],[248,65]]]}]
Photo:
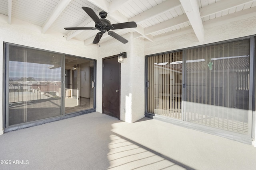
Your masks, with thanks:
[{"label": "narrower right glass pane of the left sliding door without blinds", "polygon": [[94,61],[66,55],[65,114],[94,108]]}]

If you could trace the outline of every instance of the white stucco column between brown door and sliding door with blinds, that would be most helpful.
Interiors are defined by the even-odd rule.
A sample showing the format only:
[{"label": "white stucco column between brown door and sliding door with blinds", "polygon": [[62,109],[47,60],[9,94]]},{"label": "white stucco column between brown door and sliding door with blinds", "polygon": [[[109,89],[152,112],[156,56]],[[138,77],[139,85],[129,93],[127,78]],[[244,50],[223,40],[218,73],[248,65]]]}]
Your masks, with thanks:
[{"label": "white stucco column between brown door and sliding door with blinds", "polygon": [[127,59],[121,64],[121,120],[133,123],[144,117],[144,39],[130,35]]}]

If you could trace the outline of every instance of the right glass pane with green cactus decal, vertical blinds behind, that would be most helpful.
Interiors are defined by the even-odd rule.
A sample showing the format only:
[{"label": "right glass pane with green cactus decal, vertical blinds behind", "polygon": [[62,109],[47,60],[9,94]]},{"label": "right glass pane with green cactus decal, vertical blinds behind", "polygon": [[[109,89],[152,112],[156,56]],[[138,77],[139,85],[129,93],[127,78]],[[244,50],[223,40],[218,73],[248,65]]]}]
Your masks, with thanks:
[{"label": "right glass pane with green cactus decal, vertical blinds behind", "polygon": [[247,39],[186,50],[186,121],[248,133],[249,47]]}]

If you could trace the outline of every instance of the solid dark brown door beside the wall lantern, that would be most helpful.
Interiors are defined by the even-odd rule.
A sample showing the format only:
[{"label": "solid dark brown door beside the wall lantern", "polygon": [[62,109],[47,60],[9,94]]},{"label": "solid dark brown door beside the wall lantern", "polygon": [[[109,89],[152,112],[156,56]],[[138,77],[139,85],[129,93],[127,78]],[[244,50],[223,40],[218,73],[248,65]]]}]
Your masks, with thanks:
[{"label": "solid dark brown door beside the wall lantern", "polygon": [[103,113],[120,119],[120,72],[118,57],[103,59]]}]

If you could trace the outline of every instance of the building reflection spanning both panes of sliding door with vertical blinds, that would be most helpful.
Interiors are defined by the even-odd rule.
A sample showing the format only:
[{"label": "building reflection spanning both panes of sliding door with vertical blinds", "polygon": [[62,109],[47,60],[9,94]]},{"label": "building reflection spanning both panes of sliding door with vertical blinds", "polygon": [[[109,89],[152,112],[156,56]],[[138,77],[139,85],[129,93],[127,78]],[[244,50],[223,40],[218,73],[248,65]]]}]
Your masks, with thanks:
[{"label": "building reflection spanning both panes of sliding door with vertical blinds", "polygon": [[[248,101],[243,99],[249,96],[249,59],[248,55],[212,58],[210,59],[212,69],[209,69],[205,59],[187,60],[186,76],[189,83],[186,84],[188,89],[186,93],[189,99],[186,100],[192,100],[191,96],[193,96],[193,102],[196,103],[248,109]],[[169,95],[166,94],[169,89],[168,93],[170,91],[171,96],[179,95],[181,97],[182,63],[182,61],[154,63],[154,79],[161,76],[160,81],[155,82],[155,85],[168,86],[167,89],[159,88],[159,94]],[[189,77],[196,79],[192,81]],[[163,84],[164,80],[166,80],[166,84]],[[174,86],[174,88],[170,88],[170,86]],[[163,94],[164,91],[165,94]],[[209,92],[211,94],[206,96]],[[229,95],[230,92],[232,92],[232,96]],[[217,97],[219,93],[222,94],[223,98],[222,96]],[[217,98],[220,98],[218,104]],[[239,103],[238,101],[241,100],[236,100],[238,98],[243,102]],[[227,102],[230,100],[232,102]]]}]

